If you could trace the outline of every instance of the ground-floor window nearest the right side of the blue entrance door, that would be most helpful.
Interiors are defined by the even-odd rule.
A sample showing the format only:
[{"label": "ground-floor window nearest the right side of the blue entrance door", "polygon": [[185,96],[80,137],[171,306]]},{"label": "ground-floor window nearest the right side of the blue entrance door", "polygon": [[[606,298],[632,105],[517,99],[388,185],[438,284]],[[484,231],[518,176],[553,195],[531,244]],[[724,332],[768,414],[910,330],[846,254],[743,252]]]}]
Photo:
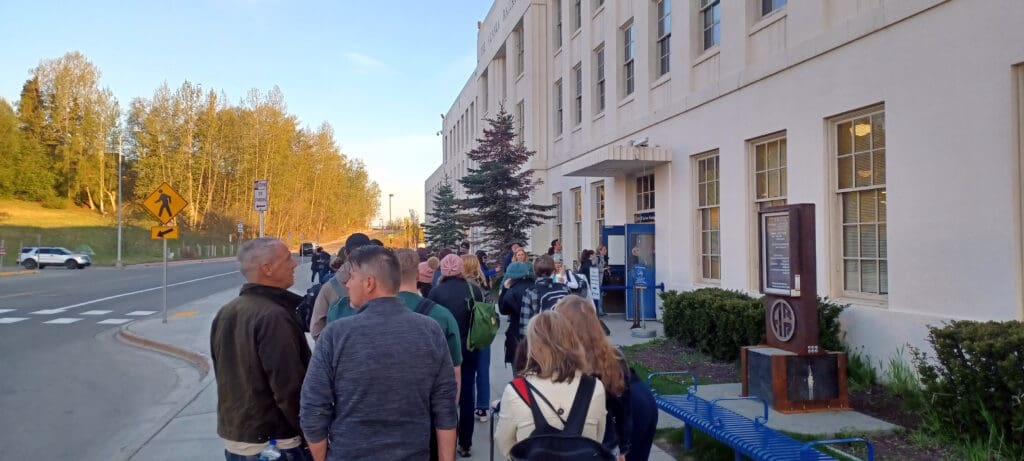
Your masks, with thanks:
[{"label": "ground-floor window nearest the right side of the blue entrance door", "polygon": [[697,160],[697,218],[700,223],[700,277],[722,279],[718,152]]}]

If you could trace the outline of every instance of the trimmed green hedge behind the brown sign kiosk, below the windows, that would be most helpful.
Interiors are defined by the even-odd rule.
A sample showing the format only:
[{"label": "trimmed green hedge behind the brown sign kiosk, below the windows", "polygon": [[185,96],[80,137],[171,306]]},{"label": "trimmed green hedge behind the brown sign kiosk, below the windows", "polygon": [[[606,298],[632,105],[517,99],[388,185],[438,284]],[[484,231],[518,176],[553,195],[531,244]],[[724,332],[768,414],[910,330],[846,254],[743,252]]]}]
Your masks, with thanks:
[{"label": "trimmed green hedge behind the brown sign kiosk, below the windows", "polygon": [[[720,288],[662,294],[665,335],[715,359],[735,361],[745,345],[765,341],[764,298]],[[844,350],[839,316],[846,306],[818,298],[819,344]]]}]

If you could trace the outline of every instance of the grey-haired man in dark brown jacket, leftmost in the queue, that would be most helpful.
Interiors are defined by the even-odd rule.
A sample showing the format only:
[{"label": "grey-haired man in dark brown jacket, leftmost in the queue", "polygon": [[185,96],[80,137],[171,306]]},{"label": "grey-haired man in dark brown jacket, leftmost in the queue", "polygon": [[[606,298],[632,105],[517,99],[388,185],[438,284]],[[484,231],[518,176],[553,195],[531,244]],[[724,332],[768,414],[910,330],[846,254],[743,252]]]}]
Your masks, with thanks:
[{"label": "grey-haired man in dark brown jacket, leftmost in the queue", "polygon": [[246,284],[213,320],[210,352],[217,378],[217,433],[228,461],[251,459],[276,441],[283,460],[308,460],[299,427],[299,393],[309,346],[294,316],[302,296],[295,260],[279,239],[242,245]]}]

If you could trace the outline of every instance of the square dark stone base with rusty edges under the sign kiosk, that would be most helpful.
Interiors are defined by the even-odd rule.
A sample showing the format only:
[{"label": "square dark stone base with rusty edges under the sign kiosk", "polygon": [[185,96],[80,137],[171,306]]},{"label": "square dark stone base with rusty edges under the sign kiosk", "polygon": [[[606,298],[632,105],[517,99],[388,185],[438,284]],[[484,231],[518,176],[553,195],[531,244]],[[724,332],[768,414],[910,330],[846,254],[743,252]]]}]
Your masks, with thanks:
[{"label": "square dark stone base with rusty edges under the sign kiosk", "polygon": [[742,395],[756,395],[780,413],[849,410],[846,354],[798,354],[770,346],[739,352]]}]

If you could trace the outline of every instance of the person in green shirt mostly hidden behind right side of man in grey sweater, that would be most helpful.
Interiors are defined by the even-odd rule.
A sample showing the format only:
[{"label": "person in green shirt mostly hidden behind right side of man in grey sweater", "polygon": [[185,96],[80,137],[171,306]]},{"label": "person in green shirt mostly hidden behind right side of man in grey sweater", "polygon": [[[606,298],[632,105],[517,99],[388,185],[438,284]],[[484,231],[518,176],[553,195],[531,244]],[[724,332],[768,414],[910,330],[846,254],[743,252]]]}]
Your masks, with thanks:
[{"label": "person in green shirt mostly hidden behind right side of man in grey sweater", "polygon": [[[452,365],[455,366],[456,402],[459,402],[459,391],[462,389],[462,339],[459,336],[459,324],[455,321],[455,316],[444,306],[437,305],[423,296],[416,286],[416,279],[420,271],[420,255],[415,250],[401,248],[394,251],[398,258],[398,265],[401,267],[401,285],[398,286],[398,294],[395,295],[410,310],[426,313],[427,317],[437,322],[447,340],[449,353],[452,355]],[[425,303],[425,304],[424,304]],[[433,424],[431,424],[433,426]],[[437,459],[437,439],[431,427],[430,430],[430,459]]]}]

